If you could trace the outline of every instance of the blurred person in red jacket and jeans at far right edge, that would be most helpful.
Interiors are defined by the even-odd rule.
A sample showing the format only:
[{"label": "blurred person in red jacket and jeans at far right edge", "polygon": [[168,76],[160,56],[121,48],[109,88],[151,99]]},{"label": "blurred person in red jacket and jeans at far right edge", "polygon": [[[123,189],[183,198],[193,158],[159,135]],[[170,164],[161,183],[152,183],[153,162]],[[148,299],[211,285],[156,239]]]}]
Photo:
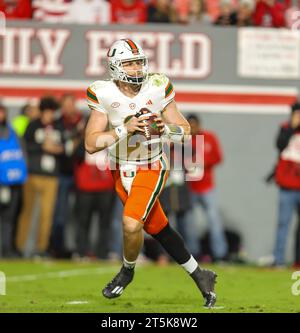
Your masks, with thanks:
[{"label": "blurred person in red jacket and jeans at far right edge", "polygon": [[290,120],[281,125],[276,144],[280,156],[275,171],[275,180],[279,186],[279,207],[274,265],[281,266],[285,264],[286,241],[293,213],[300,206],[299,102],[292,106]]}]

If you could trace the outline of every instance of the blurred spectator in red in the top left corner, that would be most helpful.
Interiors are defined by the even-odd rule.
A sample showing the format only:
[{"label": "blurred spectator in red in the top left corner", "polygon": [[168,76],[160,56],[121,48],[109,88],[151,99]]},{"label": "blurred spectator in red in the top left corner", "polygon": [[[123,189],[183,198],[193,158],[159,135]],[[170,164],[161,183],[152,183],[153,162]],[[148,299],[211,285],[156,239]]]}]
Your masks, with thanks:
[{"label": "blurred spectator in red in the top left corner", "polygon": [[31,0],[0,0],[0,12],[5,14],[6,19],[31,19]]}]

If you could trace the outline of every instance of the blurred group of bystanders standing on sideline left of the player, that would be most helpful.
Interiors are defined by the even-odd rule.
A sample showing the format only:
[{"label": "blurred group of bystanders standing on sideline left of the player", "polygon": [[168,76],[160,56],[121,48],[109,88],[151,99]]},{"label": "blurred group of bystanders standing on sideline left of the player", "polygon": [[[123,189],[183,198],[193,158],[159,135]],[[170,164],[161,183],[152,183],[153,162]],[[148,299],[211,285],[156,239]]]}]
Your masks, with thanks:
[{"label": "blurred group of bystanders standing on sideline left of the player", "polygon": [[[29,256],[70,257],[65,229],[71,215],[76,220],[72,252],[79,257],[87,256],[94,212],[98,214],[100,244],[94,255],[107,257],[113,181],[107,159],[85,153],[85,123],[75,97],[68,93],[60,101],[45,96],[38,103],[29,103],[11,121],[7,108],[0,106],[3,257],[27,256],[26,246],[34,220],[38,222],[37,235]],[[72,194],[75,194],[73,203]]]}]

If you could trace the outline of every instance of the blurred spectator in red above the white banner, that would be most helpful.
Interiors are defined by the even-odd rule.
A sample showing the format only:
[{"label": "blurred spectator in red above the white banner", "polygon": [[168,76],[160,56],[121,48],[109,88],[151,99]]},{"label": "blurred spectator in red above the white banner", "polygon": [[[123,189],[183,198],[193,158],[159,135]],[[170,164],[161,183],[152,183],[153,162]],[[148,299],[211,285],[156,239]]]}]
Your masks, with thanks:
[{"label": "blurred spectator in red above the white banner", "polygon": [[254,24],[261,27],[284,27],[285,9],[285,4],[277,0],[258,0],[253,15]]}]

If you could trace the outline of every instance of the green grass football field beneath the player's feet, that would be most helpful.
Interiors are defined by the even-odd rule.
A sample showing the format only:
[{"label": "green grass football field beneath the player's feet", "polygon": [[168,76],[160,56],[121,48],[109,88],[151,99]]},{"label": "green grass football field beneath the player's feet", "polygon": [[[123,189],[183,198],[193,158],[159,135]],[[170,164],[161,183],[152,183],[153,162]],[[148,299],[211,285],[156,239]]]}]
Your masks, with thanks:
[{"label": "green grass football field beneath the player's feet", "polygon": [[[139,266],[134,282],[114,300],[102,297],[102,287],[119,264],[66,261],[0,261],[6,275],[2,312],[297,312],[300,295],[293,296],[292,270],[249,266],[209,266],[218,273],[216,309],[203,299],[181,267]],[[75,304],[74,304],[75,302]],[[78,303],[77,303],[78,302]]]}]

